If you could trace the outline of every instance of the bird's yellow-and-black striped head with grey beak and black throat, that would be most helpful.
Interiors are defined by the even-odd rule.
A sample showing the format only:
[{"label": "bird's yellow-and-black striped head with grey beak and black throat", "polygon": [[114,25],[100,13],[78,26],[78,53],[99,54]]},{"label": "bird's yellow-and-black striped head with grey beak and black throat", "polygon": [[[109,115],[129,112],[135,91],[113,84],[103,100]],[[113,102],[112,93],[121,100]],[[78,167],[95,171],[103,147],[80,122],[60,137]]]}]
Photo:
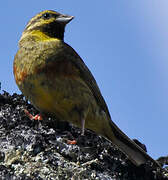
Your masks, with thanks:
[{"label": "bird's yellow-and-black striped head with grey beak and black throat", "polygon": [[41,36],[41,38],[48,37],[63,40],[65,26],[73,18],[73,16],[63,15],[52,10],[42,11],[28,22],[21,39],[26,35],[35,34]]}]

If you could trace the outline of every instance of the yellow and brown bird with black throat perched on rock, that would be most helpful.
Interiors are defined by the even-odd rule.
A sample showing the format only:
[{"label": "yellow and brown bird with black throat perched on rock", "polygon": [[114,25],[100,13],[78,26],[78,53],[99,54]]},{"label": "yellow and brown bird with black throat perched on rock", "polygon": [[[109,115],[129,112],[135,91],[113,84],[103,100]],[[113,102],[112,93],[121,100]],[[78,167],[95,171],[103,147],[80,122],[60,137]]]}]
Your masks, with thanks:
[{"label": "yellow and brown bird with black throat perched on rock", "polygon": [[135,166],[158,162],[112,121],[95,78],[78,53],[64,42],[73,16],[44,10],[27,23],[14,57],[13,73],[24,96],[41,114],[70,122],[107,138]]}]

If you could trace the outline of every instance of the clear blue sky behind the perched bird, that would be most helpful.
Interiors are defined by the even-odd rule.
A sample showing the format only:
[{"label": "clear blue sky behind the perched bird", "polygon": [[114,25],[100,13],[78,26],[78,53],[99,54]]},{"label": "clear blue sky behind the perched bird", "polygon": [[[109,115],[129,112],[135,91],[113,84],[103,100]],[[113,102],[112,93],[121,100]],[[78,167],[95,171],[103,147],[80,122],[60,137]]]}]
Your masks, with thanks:
[{"label": "clear blue sky behind the perched bird", "polygon": [[21,33],[36,13],[75,16],[65,41],[85,61],[113,121],[158,158],[168,153],[168,1],[2,1],[0,82],[20,93],[12,72]]}]

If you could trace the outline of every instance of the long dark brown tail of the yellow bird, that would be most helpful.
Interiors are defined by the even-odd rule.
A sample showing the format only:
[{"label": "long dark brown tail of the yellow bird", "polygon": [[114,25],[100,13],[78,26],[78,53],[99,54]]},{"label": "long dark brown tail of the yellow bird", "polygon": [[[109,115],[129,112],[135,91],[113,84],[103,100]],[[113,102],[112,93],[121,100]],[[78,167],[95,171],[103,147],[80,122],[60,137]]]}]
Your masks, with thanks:
[{"label": "long dark brown tail of the yellow bird", "polygon": [[154,166],[161,167],[157,161],[152,159],[140,146],[129,139],[111,120],[109,120],[108,123],[111,128],[111,133],[106,131],[105,136],[116,144],[136,166],[151,161]]}]

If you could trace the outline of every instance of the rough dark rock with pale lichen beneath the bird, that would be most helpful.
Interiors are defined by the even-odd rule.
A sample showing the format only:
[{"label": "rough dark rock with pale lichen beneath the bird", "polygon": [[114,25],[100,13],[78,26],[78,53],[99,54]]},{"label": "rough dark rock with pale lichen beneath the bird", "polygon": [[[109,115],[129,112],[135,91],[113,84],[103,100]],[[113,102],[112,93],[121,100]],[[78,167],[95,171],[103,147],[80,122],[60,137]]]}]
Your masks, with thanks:
[{"label": "rough dark rock with pale lichen beneath the bird", "polygon": [[[103,137],[53,118],[32,121],[37,114],[22,95],[0,94],[0,179],[2,180],[163,180],[166,169],[135,167]],[[67,140],[77,139],[76,145]]]}]

